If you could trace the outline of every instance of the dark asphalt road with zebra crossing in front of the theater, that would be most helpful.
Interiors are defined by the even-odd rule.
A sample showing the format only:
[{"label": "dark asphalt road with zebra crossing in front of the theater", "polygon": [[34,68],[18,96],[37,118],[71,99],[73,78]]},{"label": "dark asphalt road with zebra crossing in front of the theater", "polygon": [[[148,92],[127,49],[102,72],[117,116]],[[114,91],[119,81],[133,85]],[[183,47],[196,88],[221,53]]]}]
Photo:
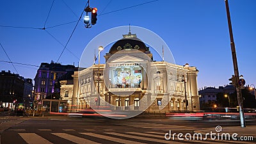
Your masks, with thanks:
[{"label": "dark asphalt road with zebra crossing in front of the theater", "polygon": [[[8,116],[0,119],[22,118]],[[246,122],[247,127],[256,125],[256,120]],[[67,116],[31,117],[13,125],[1,134],[3,144],[48,144],[48,143],[241,143],[227,140],[178,140],[177,134],[190,133],[200,129],[240,125],[239,120],[180,120],[170,118],[130,118],[113,120],[109,118],[68,118]],[[1,126],[1,125],[0,125]],[[164,134],[177,133],[175,140],[165,140]],[[167,135],[168,136],[168,135]],[[255,141],[243,141],[255,143]]]}]

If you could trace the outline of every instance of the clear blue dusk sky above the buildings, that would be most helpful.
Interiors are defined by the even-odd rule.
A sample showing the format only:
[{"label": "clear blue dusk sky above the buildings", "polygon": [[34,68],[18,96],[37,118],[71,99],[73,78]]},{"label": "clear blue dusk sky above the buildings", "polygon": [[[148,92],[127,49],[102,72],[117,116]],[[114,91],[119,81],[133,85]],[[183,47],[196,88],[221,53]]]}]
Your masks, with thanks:
[{"label": "clear blue dusk sky above the buildings", "polygon": [[[56,62],[85,5],[84,0],[55,0],[53,4],[52,0],[0,1],[0,43],[15,63],[40,66],[42,62]],[[243,74],[246,84],[256,84],[255,5],[255,0],[229,1],[239,74]],[[129,8],[131,6],[134,7]],[[170,47],[176,64],[189,63],[196,67],[199,70],[198,89],[228,84],[234,74],[224,0],[91,0],[90,7],[98,9],[97,24],[86,29],[83,20],[79,22],[58,61],[63,65],[75,63],[77,66],[93,37],[108,29],[131,24],[161,36]],[[71,23],[65,24],[67,22]],[[57,26],[60,24],[65,25]],[[132,29],[131,32],[136,33]],[[10,60],[0,47],[0,70],[17,73],[11,63],[3,62]],[[20,76],[35,78],[38,67],[14,65]]]}]

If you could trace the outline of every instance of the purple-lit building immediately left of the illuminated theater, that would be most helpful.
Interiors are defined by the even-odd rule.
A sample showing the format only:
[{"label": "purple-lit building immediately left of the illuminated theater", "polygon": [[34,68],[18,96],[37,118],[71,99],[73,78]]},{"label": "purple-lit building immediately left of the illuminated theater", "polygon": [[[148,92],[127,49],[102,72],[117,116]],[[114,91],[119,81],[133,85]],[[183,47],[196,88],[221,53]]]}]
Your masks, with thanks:
[{"label": "purple-lit building immediately left of the illuminated theater", "polygon": [[59,78],[67,72],[74,72],[74,65],[60,63],[41,63],[35,76],[35,100],[54,99],[54,93],[60,93]]}]

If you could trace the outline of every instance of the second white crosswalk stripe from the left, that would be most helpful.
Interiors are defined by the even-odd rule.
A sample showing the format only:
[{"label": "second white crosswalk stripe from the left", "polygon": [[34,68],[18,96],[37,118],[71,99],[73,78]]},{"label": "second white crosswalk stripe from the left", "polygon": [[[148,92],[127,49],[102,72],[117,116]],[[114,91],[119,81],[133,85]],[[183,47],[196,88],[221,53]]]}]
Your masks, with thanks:
[{"label": "second white crosswalk stripe from the left", "polygon": [[78,136],[73,136],[71,134],[66,134],[66,133],[52,133],[55,136],[59,136],[60,138],[65,138],[66,140],[72,141],[74,143],[79,143],[79,144],[85,144],[85,143],[90,143],[90,144],[96,144],[97,142],[87,140],[85,138],[79,138]]}]

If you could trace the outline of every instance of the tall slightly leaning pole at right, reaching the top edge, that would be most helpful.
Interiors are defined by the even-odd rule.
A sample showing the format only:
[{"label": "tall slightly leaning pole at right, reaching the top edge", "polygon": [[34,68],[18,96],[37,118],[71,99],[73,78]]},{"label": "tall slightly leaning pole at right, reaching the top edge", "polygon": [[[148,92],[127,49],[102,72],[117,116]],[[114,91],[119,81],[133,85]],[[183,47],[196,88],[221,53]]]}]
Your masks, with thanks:
[{"label": "tall slightly leaning pole at right, reaching the top edge", "polygon": [[225,0],[226,5],[226,11],[227,11],[227,19],[228,19],[228,30],[229,30],[229,36],[230,36],[230,46],[231,46],[231,52],[232,52],[232,60],[233,60],[233,66],[234,66],[234,72],[236,77],[236,92],[237,92],[237,101],[239,106],[239,113],[240,113],[240,122],[241,127],[246,127],[245,120],[244,120],[244,109],[243,109],[243,99],[242,99],[242,93],[241,93],[241,87],[239,86],[239,72],[238,72],[238,66],[237,66],[237,58],[236,58],[236,48],[232,33],[232,25],[230,20],[230,13],[229,13],[229,7],[228,7],[228,0]]}]

